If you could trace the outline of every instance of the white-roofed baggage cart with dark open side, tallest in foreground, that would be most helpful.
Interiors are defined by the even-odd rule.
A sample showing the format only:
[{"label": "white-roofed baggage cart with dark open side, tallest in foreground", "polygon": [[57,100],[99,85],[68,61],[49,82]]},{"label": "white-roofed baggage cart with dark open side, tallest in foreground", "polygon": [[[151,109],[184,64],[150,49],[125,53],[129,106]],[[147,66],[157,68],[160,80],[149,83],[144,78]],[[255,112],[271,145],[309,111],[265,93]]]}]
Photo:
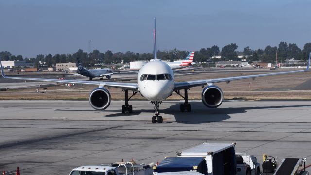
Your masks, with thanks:
[{"label": "white-roofed baggage cart with dark open side, tallest in foreground", "polygon": [[176,152],[178,157],[205,157],[208,175],[236,175],[235,143],[202,143]]}]

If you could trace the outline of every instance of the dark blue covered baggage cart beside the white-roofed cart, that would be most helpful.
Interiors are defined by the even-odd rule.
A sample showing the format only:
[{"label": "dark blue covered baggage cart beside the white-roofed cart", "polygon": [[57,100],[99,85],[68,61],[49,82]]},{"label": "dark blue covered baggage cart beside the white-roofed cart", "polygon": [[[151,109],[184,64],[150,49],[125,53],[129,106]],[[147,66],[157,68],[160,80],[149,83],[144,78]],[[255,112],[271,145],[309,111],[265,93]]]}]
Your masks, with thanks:
[{"label": "dark blue covered baggage cart beside the white-roofed cart", "polygon": [[204,157],[167,157],[155,169],[155,172],[197,171],[208,175]]}]

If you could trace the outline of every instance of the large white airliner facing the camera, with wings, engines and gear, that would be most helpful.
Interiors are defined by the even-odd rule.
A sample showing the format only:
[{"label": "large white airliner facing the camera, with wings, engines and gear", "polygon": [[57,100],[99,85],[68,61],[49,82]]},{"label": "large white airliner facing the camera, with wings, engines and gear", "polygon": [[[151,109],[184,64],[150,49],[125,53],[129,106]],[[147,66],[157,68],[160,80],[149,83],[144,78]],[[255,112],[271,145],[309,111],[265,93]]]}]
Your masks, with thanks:
[{"label": "large white airliner facing the camera, with wings, engines and gear", "polygon": [[[155,42],[155,19],[154,19],[154,58],[156,59],[156,42]],[[295,70],[285,71],[277,73],[267,73],[258,75],[246,75],[236,76],[227,78],[215,78],[215,79],[204,79],[204,80],[190,80],[175,82],[174,71],[166,63],[155,60],[145,64],[138,72],[137,83],[126,83],[126,82],[104,82],[104,81],[79,81],[79,80],[56,80],[56,79],[43,79],[43,78],[25,78],[25,77],[9,77],[6,76],[1,69],[2,76],[4,78],[21,79],[21,80],[36,80],[36,81],[52,81],[60,83],[79,83],[97,85],[89,95],[89,103],[96,110],[106,109],[111,102],[111,96],[109,91],[105,87],[120,88],[124,92],[125,105],[122,105],[122,113],[132,113],[132,105],[129,105],[128,101],[130,98],[139,92],[147,100],[151,101],[155,108],[155,115],[152,117],[152,123],[162,123],[163,118],[160,116],[159,107],[163,100],[167,99],[172,95],[173,92],[179,94],[185,102],[180,105],[180,111],[184,112],[187,110],[191,111],[191,105],[188,104],[188,90],[191,87],[205,86],[202,91],[202,102],[209,108],[215,108],[223,102],[223,92],[221,88],[215,86],[215,83],[227,82],[232,80],[240,80],[245,78],[256,78],[263,76],[282,75],[289,73],[306,72],[309,70],[310,65],[310,54],[306,70]],[[1,62],[0,62],[1,63]],[[1,64],[2,68],[2,64]],[[133,91],[132,96],[128,96],[128,91]],[[184,90],[185,94],[182,96],[179,92]]]}]

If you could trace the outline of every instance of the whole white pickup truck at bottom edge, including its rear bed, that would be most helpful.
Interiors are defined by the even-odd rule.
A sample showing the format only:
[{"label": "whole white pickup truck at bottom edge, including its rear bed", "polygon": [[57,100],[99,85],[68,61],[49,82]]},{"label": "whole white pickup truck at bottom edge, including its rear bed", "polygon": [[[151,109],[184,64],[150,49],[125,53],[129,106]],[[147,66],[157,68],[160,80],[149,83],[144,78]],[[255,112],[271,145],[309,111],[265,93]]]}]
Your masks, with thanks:
[{"label": "whole white pickup truck at bottom edge, including its rear bed", "polygon": [[74,168],[71,170],[69,175],[153,175],[152,167],[146,168],[134,167],[114,167],[114,166],[103,166],[103,165],[86,165]]}]

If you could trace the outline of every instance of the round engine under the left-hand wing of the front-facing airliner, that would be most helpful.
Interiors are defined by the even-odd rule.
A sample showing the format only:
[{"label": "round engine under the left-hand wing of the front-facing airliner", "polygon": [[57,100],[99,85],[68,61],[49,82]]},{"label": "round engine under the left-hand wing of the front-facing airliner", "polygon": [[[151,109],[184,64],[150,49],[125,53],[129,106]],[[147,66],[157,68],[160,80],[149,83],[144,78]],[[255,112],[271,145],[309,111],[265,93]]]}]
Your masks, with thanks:
[{"label": "round engine under the left-hand wing of the front-facing airliner", "polygon": [[89,95],[89,103],[96,110],[106,109],[111,102],[111,96],[107,89],[96,88]]}]

